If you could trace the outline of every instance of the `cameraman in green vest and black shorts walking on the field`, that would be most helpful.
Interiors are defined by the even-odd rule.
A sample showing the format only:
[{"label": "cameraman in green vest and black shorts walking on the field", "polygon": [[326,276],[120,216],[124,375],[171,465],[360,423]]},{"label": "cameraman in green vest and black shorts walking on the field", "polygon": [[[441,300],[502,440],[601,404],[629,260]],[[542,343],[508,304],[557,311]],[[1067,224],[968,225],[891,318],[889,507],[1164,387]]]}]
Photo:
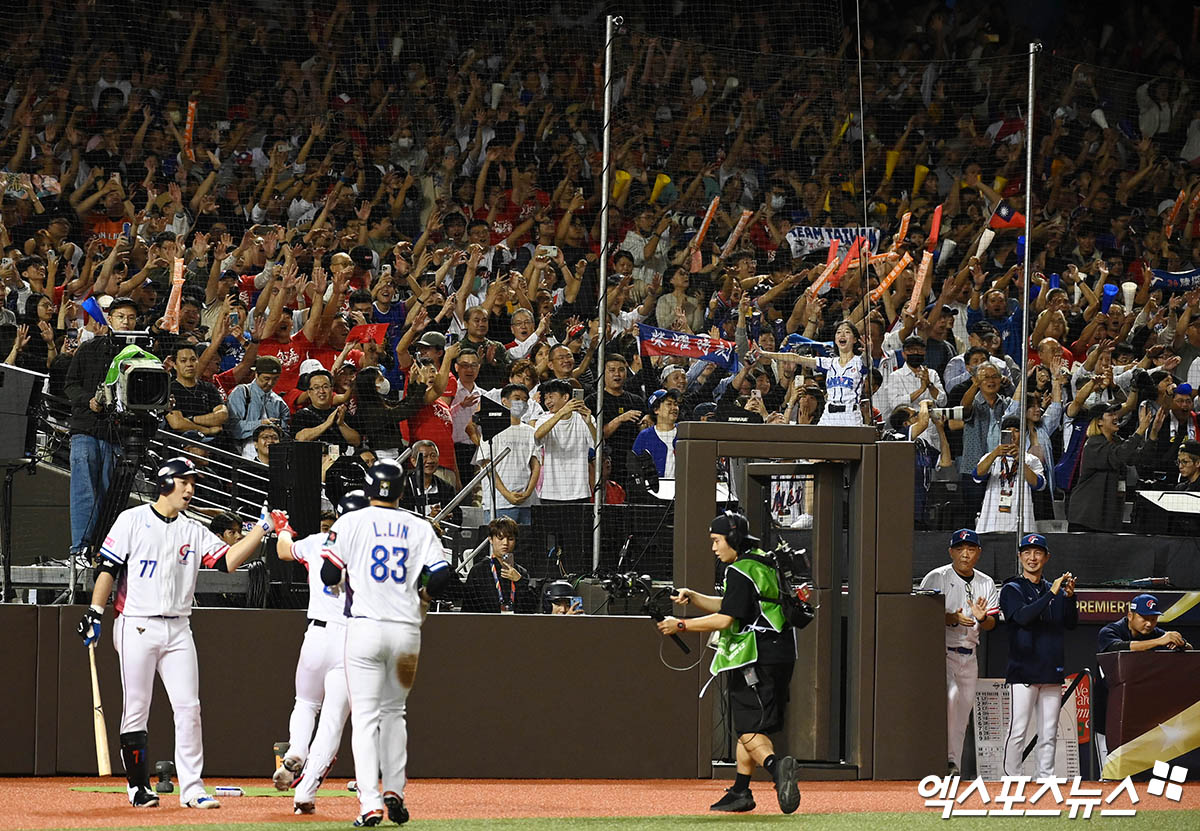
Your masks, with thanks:
[{"label": "cameraman in green vest and black shorts walking on the field", "polygon": [[[792,757],[776,757],[768,733],[784,724],[788,684],[796,665],[796,635],[784,618],[774,560],[750,536],[742,514],[726,512],[708,527],[713,554],[725,563],[721,597],[679,588],[671,599],[708,612],[703,617],[666,617],[658,623],[664,635],[680,632],[718,632],[716,654],[709,666],[715,678],[728,672],[730,707],[738,733],[738,773],[733,787],[710,811],[744,813],[755,809],[750,777],[762,765],[775,782],[779,808],[785,814],[800,805]],[[766,590],[766,593],[761,593]]]}]

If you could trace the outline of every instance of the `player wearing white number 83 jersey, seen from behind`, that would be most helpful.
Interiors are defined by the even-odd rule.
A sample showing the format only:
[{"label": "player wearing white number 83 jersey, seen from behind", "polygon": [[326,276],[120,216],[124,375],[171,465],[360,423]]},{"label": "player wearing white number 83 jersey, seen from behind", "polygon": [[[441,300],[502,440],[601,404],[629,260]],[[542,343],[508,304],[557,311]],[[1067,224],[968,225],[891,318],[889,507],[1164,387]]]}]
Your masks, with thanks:
[{"label": "player wearing white number 83 jersey, seen from behind", "polygon": [[[408,821],[404,701],[416,676],[421,621],[452,574],[427,520],[397,509],[403,471],[383,459],[367,472],[371,504],[338,519],[322,552],[326,586],[346,580],[346,681],[354,725],[355,826]],[[379,776],[383,775],[380,795]]]}]

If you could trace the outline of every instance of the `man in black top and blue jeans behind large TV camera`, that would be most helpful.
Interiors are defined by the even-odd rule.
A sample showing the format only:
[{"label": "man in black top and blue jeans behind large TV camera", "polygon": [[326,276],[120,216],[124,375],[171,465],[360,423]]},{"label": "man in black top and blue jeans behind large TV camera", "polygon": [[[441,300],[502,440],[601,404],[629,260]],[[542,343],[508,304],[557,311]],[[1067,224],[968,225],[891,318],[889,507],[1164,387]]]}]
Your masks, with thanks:
[{"label": "man in black top and blue jeans behind large TV camera", "polygon": [[[112,331],[132,331],[138,307],[130,298],[116,298],[108,307]],[[98,391],[116,354],[125,348],[121,337],[108,329],[83,343],[67,370],[64,391],[71,401],[71,554],[83,550],[84,540],[98,520],[101,496],[113,479],[118,426]]]}]

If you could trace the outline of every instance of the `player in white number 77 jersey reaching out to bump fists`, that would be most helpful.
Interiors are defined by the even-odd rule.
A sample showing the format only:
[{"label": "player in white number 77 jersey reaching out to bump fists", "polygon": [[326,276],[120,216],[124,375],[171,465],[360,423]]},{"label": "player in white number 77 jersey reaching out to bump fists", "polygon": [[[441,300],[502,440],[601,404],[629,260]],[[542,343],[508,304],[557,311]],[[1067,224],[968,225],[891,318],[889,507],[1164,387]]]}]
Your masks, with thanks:
[{"label": "player in white number 77 jersey reaching out to bump fists", "polygon": [[188,808],[218,808],[204,790],[199,671],[190,616],[200,567],[232,572],[258,549],[263,536],[287,525],[287,514],[263,508],[258,524],[234,545],[184,516],[196,492],[196,467],[172,459],[158,470],[158,498],[122,512],[101,546],[91,608],[79,621],[84,644],[100,640],[101,618],[116,586],[113,644],[121,662],[121,760],[130,803],[158,806],[150,788],[146,724],[158,672],[175,716],[179,801]]}]

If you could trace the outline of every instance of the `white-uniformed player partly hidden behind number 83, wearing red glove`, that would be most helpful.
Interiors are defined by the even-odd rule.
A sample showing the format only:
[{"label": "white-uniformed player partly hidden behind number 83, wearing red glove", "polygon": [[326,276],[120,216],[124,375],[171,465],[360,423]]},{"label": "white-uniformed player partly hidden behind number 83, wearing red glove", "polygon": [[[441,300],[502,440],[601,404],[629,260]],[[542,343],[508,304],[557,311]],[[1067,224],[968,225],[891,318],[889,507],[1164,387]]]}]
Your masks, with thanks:
[{"label": "white-uniformed player partly hidden behind number 83, wearing red glove", "polygon": [[[337,516],[368,504],[364,491],[352,490],[337,503]],[[294,813],[311,814],[317,809],[317,789],[334,764],[346,717],[350,715],[343,663],[346,598],[335,586],[326,586],[320,580],[325,534],[293,540],[294,533],[290,527],[280,531],[275,551],[280,560],[298,562],[308,573],[308,629],[296,663],[296,698],[288,723],[288,753],[272,778],[278,790],[295,785]],[[317,727],[316,736],[313,727]]]}]

